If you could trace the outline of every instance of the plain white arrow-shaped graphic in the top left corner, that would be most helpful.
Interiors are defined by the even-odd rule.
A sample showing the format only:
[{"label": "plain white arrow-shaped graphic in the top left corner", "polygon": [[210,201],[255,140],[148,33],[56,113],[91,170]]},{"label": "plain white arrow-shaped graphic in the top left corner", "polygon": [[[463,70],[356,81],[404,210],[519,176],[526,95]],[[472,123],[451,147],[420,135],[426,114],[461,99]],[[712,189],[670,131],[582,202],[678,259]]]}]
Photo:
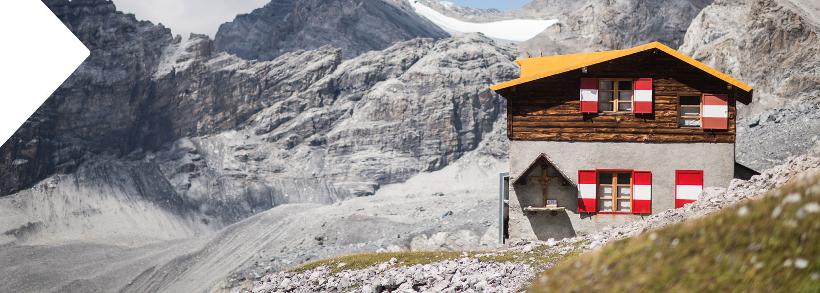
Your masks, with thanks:
[{"label": "plain white arrow-shaped graphic in the top left corner", "polygon": [[0,142],[89,54],[40,0],[0,1]]}]

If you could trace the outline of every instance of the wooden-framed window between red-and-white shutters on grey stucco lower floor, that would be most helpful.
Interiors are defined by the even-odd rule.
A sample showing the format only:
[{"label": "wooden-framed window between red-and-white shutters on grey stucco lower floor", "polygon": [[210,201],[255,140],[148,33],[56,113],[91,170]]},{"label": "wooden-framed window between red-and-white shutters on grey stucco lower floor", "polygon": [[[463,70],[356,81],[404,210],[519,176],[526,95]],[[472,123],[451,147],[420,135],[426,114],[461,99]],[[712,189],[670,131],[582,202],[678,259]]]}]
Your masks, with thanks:
[{"label": "wooden-framed window between red-and-white shutters on grey stucco lower floor", "polygon": [[631,213],[632,172],[598,172],[599,213]]}]

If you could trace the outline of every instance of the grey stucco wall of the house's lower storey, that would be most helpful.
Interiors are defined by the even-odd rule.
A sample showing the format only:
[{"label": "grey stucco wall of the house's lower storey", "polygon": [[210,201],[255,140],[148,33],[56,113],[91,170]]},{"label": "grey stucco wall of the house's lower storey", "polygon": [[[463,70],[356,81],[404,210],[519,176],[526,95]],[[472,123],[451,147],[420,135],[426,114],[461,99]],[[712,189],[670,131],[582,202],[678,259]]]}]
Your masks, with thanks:
[{"label": "grey stucco wall of the house's lower storey", "polygon": [[[562,239],[584,235],[602,227],[640,220],[646,215],[577,213],[574,186],[548,186],[549,199],[558,199],[561,212],[524,212],[541,204],[540,167],[526,176],[526,185],[512,184],[544,153],[574,183],[578,170],[623,169],[652,172],[652,213],[675,208],[675,171],[703,170],[704,186],[727,187],[735,167],[735,144],[669,144],[638,142],[510,142],[509,237],[510,239]],[[550,171],[554,172],[554,171]],[[553,174],[553,173],[551,173]]]}]

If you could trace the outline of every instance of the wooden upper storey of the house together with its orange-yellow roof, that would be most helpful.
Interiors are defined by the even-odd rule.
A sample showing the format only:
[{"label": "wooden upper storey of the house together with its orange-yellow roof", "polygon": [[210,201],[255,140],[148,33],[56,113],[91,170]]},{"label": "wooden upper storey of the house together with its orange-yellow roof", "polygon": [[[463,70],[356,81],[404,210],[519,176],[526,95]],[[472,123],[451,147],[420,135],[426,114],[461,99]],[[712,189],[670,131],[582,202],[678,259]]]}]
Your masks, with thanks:
[{"label": "wooden upper storey of the house together with its orange-yellow roof", "polygon": [[[538,69],[522,65],[522,78],[491,87],[507,98],[508,138],[734,143],[736,103],[751,103],[751,88],[663,44],[656,42],[642,47],[609,51],[617,53],[611,54],[615,57],[580,56],[581,61],[572,60],[570,65],[558,62],[553,66],[563,68],[544,68],[540,73]],[[644,86],[651,86],[651,104],[643,113],[581,112],[579,89],[585,79],[650,79],[651,84],[647,81]],[[635,90],[635,84],[632,83],[631,90]],[[723,103],[728,108],[727,123],[722,127],[725,129],[681,126],[679,97],[704,97],[703,104],[707,100],[704,95],[725,98]],[[631,108],[636,106],[635,102]]]}]

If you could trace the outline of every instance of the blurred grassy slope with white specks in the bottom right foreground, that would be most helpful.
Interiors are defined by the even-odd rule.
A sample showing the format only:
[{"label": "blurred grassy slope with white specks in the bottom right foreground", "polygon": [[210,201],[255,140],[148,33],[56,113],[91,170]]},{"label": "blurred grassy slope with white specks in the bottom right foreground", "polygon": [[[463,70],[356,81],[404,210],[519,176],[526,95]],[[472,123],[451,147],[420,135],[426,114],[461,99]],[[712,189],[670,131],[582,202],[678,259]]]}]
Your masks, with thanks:
[{"label": "blurred grassy slope with white specks in the bottom right foreground", "polygon": [[793,182],[763,199],[582,254],[544,272],[531,291],[818,292],[818,203],[820,177]]}]

